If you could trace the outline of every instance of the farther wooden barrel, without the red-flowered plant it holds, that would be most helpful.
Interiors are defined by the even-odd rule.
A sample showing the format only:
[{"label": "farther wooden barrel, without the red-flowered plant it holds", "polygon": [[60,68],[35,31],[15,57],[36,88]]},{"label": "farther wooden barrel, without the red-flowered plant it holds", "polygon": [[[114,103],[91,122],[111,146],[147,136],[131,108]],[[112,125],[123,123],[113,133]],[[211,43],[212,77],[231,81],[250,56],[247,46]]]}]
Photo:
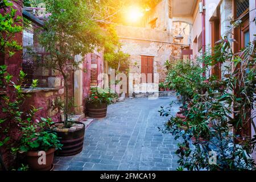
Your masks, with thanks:
[{"label": "farther wooden barrel, without the red-flowered plant it holds", "polygon": [[101,104],[89,103],[89,104],[86,104],[87,115],[90,118],[105,118],[107,110],[108,110],[108,104],[106,104],[106,103],[101,103]]}]

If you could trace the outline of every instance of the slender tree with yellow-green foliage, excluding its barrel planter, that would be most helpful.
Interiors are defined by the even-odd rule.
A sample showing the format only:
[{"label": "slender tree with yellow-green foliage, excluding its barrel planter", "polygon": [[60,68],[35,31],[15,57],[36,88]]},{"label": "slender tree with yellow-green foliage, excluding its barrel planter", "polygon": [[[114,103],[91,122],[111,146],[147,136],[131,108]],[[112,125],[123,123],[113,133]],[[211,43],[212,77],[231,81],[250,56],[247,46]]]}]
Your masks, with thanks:
[{"label": "slender tree with yellow-green foliage, excluding its barrel planter", "polygon": [[[92,6],[88,1],[46,0],[47,13],[51,15],[46,22],[45,31],[39,36],[40,44],[49,55],[44,58],[44,67],[59,71],[64,79],[65,102],[64,122],[68,121],[69,88],[68,79],[80,69],[83,56],[103,47],[105,34],[103,29],[92,19]],[[81,55],[80,60],[75,60]]]}]

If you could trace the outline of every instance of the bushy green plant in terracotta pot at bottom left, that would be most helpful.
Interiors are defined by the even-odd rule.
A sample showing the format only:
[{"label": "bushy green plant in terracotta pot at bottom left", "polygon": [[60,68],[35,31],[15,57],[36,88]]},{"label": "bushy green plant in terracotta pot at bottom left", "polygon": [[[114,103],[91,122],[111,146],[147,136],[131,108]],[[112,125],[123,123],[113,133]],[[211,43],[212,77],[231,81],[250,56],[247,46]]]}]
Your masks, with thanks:
[{"label": "bushy green plant in terracotta pot at bottom left", "polygon": [[[42,121],[27,121],[22,127],[22,139],[19,152],[24,153],[28,167],[32,171],[48,171],[53,168],[53,157],[56,149],[61,149],[57,134],[49,130],[53,124],[50,118]],[[45,157],[45,158],[44,158]]]}]

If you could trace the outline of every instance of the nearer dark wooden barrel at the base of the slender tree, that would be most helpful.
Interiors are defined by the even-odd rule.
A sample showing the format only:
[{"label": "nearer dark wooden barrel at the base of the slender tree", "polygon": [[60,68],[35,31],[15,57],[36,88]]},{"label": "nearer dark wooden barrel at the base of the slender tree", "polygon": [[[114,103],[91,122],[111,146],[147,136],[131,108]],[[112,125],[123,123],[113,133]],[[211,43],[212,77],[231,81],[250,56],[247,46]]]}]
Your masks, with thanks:
[{"label": "nearer dark wooden barrel at the base of the slender tree", "polygon": [[[82,122],[76,122],[77,124],[82,124]],[[82,151],[84,145],[84,134],[85,134],[85,125],[82,129],[76,131],[55,131],[60,137],[60,143],[63,144],[61,150],[57,150],[55,154],[57,156],[71,156],[79,154]]]}]

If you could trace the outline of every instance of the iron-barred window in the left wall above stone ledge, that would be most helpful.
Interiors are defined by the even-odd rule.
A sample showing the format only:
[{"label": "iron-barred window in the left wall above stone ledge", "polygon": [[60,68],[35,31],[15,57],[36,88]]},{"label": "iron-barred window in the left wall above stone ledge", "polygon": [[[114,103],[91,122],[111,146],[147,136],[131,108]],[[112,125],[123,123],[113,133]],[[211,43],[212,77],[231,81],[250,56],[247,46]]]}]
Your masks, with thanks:
[{"label": "iron-barred window in the left wall above stone ledge", "polygon": [[38,35],[43,28],[30,20],[23,18],[23,62],[22,70],[26,73],[23,83],[24,87],[30,87],[32,80],[39,81],[38,87],[46,87],[47,82],[44,81],[44,69],[42,66],[43,56],[46,54],[44,48],[38,43]]}]

